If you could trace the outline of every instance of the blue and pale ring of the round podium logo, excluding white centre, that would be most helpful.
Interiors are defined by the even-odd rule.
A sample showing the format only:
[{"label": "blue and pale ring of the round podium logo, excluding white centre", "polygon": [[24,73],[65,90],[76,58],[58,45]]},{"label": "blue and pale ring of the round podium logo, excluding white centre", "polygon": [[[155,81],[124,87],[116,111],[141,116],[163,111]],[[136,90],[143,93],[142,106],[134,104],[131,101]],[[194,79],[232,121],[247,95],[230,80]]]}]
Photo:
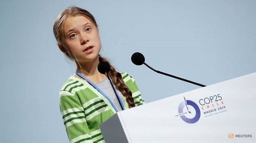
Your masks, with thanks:
[{"label": "blue and pale ring of the round podium logo, excluding white centre", "polygon": [[[184,97],[184,99],[185,99],[185,97]],[[195,113],[192,113],[192,112],[189,111],[188,105],[192,106],[195,109]],[[180,116],[181,119],[183,121],[187,122],[187,123],[195,123],[195,122],[197,122],[199,120],[200,116],[201,116],[201,112],[200,112],[200,109],[197,106],[197,104],[195,102],[191,101],[191,100],[186,100],[185,99],[185,102],[181,102],[179,104],[179,109],[178,109],[179,110],[179,114],[184,113],[183,109],[184,109],[185,106],[186,106],[186,108],[188,110],[187,114],[195,114],[195,117],[187,118],[185,115],[181,115]]]}]

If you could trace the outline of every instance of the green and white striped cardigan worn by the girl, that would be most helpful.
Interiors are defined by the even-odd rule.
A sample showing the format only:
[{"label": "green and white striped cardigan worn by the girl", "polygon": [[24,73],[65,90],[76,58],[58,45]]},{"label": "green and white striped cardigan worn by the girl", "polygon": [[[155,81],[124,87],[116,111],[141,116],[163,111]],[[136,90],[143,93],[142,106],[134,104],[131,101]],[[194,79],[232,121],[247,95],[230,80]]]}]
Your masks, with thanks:
[{"label": "green and white striped cardigan worn by the girl", "polygon": [[[144,104],[134,79],[121,73],[135,106]],[[60,89],[60,110],[70,143],[104,143],[99,125],[116,113],[111,103],[87,81],[71,76]],[[125,102],[125,109],[128,109]]]}]

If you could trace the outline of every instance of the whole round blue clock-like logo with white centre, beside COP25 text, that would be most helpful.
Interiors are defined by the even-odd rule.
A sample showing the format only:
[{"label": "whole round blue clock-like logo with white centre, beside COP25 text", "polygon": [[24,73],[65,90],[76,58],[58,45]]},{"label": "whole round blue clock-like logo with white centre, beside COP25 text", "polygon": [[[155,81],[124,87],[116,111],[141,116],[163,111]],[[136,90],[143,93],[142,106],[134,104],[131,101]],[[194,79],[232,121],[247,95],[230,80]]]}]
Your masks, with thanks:
[{"label": "whole round blue clock-like logo with white centre, beside COP25 text", "polygon": [[186,100],[179,104],[178,112],[181,115],[181,119],[187,123],[196,123],[200,116],[201,112],[197,104],[191,100]]}]

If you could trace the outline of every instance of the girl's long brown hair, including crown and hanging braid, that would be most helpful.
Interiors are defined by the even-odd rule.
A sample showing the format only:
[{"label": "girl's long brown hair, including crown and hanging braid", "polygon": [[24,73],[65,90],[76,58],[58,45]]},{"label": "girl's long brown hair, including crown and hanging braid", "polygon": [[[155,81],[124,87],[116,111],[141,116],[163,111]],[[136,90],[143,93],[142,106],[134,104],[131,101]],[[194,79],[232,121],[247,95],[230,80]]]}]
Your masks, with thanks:
[{"label": "girl's long brown hair, including crown and hanging braid", "polygon": [[[91,20],[91,22],[93,22],[93,24],[95,24],[95,26],[97,27],[95,18],[91,13],[79,7],[68,7],[68,9],[65,9],[57,16],[53,25],[53,33],[59,44],[61,44],[61,34],[62,34],[63,24],[65,20],[68,18],[68,16],[75,16],[75,15],[85,16],[86,18]],[[66,56],[70,57],[68,53],[66,53]],[[100,55],[99,55],[99,60],[100,62],[105,61],[109,63],[107,59],[103,58]],[[129,108],[134,107],[135,106],[134,99],[132,97],[131,91],[125,85],[125,82],[122,80],[122,75],[118,73],[111,64],[109,65],[110,65],[109,77],[111,77],[113,84],[122,93],[122,95],[125,96],[125,99],[128,102]]]}]

